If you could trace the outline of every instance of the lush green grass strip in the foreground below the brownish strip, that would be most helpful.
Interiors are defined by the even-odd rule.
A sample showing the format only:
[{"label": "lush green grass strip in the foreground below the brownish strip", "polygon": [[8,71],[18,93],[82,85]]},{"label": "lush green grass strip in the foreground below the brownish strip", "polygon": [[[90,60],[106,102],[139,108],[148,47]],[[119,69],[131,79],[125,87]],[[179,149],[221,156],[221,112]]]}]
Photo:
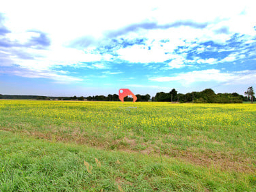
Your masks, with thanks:
[{"label": "lush green grass strip in the foreground below the brownish strip", "polygon": [[255,176],[0,131],[0,191],[255,191]]}]

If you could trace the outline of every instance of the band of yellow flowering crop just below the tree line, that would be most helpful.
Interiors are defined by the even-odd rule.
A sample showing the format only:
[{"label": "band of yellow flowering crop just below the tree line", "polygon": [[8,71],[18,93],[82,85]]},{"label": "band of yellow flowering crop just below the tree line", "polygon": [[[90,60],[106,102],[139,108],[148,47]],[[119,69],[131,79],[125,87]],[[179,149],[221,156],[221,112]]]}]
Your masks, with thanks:
[{"label": "band of yellow flowering crop just below the tree line", "polygon": [[[63,102],[1,100],[0,109],[15,118],[48,120],[108,127],[172,132],[173,129],[233,129],[255,126],[256,106],[250,104],[170,104],[168,102]],[[250,116],[252,115],[252,116]],[[26,122],[24,119],[23,122]]]}]

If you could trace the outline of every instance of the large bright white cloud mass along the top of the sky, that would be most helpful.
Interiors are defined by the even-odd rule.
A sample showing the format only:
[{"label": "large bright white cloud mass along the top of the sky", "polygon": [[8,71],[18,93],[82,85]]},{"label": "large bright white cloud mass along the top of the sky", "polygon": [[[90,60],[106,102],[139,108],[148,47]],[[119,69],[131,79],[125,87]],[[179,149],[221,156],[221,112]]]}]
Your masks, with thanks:
[{"label": "large bright white cloud mass along the top of the sky", "polygon": [[[255,21],[254,4],[253,1],[243,1],[243,3],[241,1],[208,1],[207,3],[205,1],[176,1],[175,3],[172,1],[129,1],[124,5],[120,1],[100,1],[99,5],[99,1],[70,3],[69,1],[45,0],[44,4],[38,6],[33,1],[22,1],[22,3],[6,1],[1,3],[0,12],[6,13],[9,18],[8,28],[13,31],[26,31],[28,28],[40,29],[50,33],[54,38],[54,43],[59,43],[68,42],[74,36],[101,37],[105,31],[145,20],[154,20],[159,24],[168,24],[177,20],[196,22],[224,20],[226,22],[223,22],[220,27],[225,25],[230,26],[232,31],[251,33],[248,31],[252,31],[251,27]],[[58,12],[56,12],[57,8]],[[241,15],[243,11],[244,15]],[[47,12],[46,15],[45,12]]]}]

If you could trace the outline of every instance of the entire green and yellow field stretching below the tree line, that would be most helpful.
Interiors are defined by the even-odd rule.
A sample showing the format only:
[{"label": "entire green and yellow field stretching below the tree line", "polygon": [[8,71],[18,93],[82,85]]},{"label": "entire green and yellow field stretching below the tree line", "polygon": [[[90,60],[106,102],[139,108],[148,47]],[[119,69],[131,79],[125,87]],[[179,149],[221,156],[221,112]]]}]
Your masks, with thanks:
[{"label": "entire green and yellow field stretching below the tree line", "polygon": [[256,191],[256,105],[0,100],[0,191]]}]

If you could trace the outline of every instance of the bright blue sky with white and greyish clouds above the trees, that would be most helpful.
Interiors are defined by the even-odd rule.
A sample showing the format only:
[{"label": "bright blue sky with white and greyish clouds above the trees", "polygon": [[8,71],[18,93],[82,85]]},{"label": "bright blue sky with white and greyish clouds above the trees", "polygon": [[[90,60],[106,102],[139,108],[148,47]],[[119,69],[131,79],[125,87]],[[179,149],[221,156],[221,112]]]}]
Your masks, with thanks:
[{"label": "bright blue sky with white and greyish clouds above the trees", "polygon": [[0,93],[256,86],[254,1],[0,1]]}]

